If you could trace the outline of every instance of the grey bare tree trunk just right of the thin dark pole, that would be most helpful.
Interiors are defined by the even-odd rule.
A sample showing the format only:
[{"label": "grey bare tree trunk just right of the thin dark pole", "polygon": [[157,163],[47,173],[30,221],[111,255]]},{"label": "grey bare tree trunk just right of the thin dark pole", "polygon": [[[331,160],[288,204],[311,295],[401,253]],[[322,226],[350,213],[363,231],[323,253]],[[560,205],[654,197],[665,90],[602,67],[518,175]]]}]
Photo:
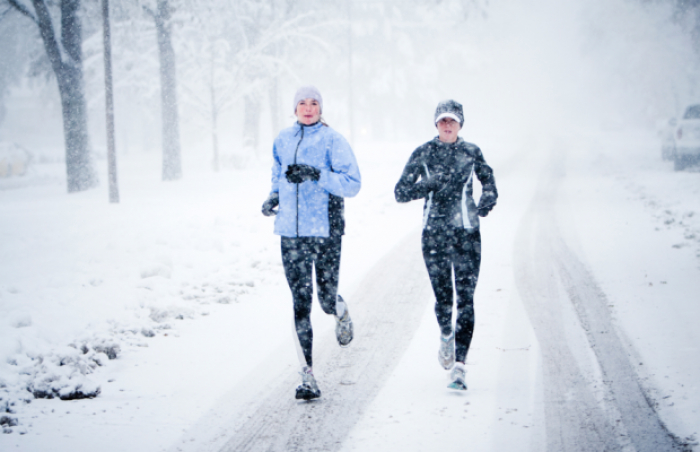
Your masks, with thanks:
[{"label": "grey bare tree trunk just right of the thin dark pole", "polygon": [[170,33],[170,6],[168,0],[158,0],[157,11],[152,13],[158,35],[160,58],[160,93],[163,122],[163,180],[182,176],[180,158],[180,126],[177,113],[177,84],[175,79],[175,51]]}]

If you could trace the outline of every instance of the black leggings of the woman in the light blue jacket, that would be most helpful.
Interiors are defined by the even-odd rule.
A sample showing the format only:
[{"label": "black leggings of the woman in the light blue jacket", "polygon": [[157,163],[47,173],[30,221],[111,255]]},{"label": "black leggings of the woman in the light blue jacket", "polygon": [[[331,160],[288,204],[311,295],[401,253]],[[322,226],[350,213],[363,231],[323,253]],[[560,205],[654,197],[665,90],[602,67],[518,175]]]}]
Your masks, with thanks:
[{"label": "black leggings of the woman in the light blue jacket", "polygon": [[294,298],[294,325],[299,344],[304,352],[306,365],[312,366],[311,350],[311,302],[313,281],[311,269],[316,267],[318,300],[326,314],[335,315],[340,270],[340,245],[342,236],[282,237],[282,263],[289,288]]}]

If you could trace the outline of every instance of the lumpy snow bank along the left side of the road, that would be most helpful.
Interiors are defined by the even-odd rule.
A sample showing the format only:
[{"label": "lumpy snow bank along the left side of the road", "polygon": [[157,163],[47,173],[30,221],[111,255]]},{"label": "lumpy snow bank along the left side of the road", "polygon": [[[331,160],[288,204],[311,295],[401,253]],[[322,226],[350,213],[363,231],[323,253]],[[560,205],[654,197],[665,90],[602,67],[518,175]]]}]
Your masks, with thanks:
[{"label": "lumpy snow bank along the left side of the road", "polygon": [[[232,327],[243,327],[236,313],[260,321],[248,313],[251,300],[253,311],[275,308],[256,298],[262,287],[282,288],[269,276],[282,271],[272,225],[259,214],[267,168],[190,174],[173,183],[150,177],[147,171],[158,174],[156,161],[127,159],[122,169],[118,205],[109,205],[102,189],[0,192],[0,404],[3,429],[14,433],[0,435],[3,443],[41,444],[51,435],[37,435],[47,435],[50,424],[66,432],[84,427],[56,419],[52,413],[73,403],[59,398],[98,396],[75,401],[92,413],[109,404],[115,380],[122,391],[142,391],[150,378],[125,385],[133,371],[124,364],[136,356],[157,361],[149,347],[177,340],[196,328],[194,319],[233,315]],[[202,355],[222,345],[197,344]],[[192,371],[182,366],[174,359],[165,372],[149,375],[159,374],[156,381],[167,386]],[[98,423],[111,419],[96,416]]]}]

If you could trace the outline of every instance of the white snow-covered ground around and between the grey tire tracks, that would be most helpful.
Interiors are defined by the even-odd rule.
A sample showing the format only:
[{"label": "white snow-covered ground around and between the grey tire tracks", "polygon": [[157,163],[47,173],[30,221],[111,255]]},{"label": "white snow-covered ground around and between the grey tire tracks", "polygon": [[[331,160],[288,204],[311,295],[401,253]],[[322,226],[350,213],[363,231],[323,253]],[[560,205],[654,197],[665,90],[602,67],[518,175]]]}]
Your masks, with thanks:
[{"label": "white snow-covered ground around and between the grey tire tracks", "polygon": [[[419,202],[393,199],[416,144],[357,146],[363,189],[347,202],[341,278],[350,303],[374,264],[420,224]],[[514,250],[552,151],[566,153],[557,210],[566,242],[605,292],[661,419],[695,443],[700,174],[673,172],[644,131],[579,133],[527,148],[515,139],[478,144],[501,198],[482,232],[469,391],[445,389],[438,330],[424,300],[391,384],[338,447],[534,451],[547,443],[543,344],[518,291]],[[296,371],[279,240],[259,213],[267,165],[214,174],[189,157],[183,180],[168,183],[158,180],[156,153],[120,159],[119,205],[108,204],[104,183],[66,195],[63,168],[50,165],[2,186],[7,434],[0,449],[215,450],[212,435],[221,430],[213,423],[255,406],[272,380]],[[313,322],[318,337],[331,338],[333,322],[320,309]],[[317,367],[322,387],[338,384],[321,380],[323,363]],[[58,396],[99,388],[99,395],[35,399],[27,387]]]}]

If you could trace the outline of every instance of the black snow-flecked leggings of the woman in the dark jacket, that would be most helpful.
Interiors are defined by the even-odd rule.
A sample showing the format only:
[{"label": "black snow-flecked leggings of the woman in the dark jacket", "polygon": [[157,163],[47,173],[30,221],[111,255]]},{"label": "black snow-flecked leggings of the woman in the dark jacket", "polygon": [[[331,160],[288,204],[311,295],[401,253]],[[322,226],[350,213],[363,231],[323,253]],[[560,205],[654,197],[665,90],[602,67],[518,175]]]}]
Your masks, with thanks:
[{"label": "black snow-flecked leggings of the woman in the dark jacket", "polygon": [[481,233],[463,228],[423,230],[423,259],[435,293],[435,315],[440,332],[452,333],[454,268],[457,292],[455,359],[464,362],[474,334],[474,290],[481,265]]}]

